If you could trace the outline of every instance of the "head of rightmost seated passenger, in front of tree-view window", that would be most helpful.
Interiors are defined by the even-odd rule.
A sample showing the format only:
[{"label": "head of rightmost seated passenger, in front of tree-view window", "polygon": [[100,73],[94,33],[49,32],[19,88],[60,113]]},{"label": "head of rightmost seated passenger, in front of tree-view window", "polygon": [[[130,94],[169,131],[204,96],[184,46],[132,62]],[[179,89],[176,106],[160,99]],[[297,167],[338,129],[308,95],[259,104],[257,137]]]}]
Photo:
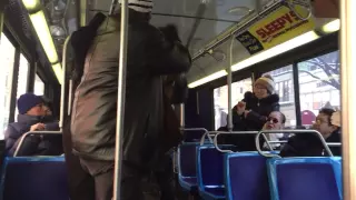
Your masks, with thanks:
[{"label": "head of rightmost seated passenger, in front of tree-view window", "polygon": [[342,127],[342,114],[334,109],[324,108],[316,117],[313,128],[319,131],[324,138],[329,137],[333,132]]}]

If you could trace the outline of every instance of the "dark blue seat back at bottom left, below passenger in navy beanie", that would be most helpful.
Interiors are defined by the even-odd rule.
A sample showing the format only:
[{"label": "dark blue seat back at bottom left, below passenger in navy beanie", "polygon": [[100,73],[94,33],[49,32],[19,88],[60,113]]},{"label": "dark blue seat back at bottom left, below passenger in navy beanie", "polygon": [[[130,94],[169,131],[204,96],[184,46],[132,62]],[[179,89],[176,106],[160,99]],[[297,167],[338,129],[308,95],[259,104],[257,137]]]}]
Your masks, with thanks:
[{"label": "dark blue seat back at bottom left, below passenger in navy beanie", "polygon": [[6,158],[1,197],[6,200],[69,200],[65,158]]}]

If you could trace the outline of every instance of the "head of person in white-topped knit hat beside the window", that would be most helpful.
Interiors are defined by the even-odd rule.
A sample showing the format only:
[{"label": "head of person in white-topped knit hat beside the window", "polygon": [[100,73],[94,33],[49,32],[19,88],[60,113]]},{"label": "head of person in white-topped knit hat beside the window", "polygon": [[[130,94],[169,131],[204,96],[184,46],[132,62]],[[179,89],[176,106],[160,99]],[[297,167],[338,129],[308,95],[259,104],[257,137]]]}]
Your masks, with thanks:
[{"label": "head of person in white-topped knit hat beside the window", "polygon": [[266,74],[256,80],[254,84],[254,93],[258,99],[264,99],[275,92],[275,81]]}]

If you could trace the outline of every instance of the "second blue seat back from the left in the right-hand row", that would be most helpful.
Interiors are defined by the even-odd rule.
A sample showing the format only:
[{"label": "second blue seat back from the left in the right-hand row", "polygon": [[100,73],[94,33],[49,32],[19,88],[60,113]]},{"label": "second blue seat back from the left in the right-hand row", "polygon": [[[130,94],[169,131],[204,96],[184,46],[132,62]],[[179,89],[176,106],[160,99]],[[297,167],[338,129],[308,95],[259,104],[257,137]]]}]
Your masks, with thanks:
[{"label": "second blue seat back from the left in the right-hand row", "polygon": [[[234,146],[219,147],[231,149]],[[211,144],[197,148],[197,181],[200,191],[224,187],[224,154]]]}]

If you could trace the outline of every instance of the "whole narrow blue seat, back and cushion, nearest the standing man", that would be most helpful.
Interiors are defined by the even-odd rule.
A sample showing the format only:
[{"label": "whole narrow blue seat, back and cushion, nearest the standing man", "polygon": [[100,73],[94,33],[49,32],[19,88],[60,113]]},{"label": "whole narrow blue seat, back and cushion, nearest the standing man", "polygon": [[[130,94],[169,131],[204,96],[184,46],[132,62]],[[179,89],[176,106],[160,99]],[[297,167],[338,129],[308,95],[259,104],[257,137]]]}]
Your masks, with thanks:
[{"label": "whole narrow blue seat, back and cushion, nearest the standing man", "polygon": [[198,190],[196,151],[199,143],[184,143],[178,147],[178,181],[189,192]]}]

